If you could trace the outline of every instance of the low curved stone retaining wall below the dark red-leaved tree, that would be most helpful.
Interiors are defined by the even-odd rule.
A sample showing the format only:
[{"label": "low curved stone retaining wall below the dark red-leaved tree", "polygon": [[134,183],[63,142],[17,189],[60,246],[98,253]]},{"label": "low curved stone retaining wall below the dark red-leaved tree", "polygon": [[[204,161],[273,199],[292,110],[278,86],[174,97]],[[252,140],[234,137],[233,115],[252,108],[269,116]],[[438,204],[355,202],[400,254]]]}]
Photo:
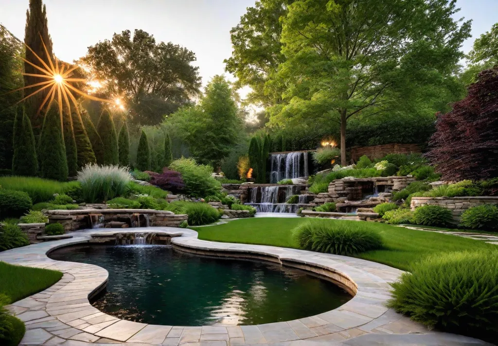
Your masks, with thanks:
[{"label": "low curved stone retaining wall below the dark red-leaved tree", "polygon": [[412,197],[410,209],[426,205],[440,206],[451,210],[455,224],[460,223],[463,212],[483,204],[498,204],[498,197]]}]

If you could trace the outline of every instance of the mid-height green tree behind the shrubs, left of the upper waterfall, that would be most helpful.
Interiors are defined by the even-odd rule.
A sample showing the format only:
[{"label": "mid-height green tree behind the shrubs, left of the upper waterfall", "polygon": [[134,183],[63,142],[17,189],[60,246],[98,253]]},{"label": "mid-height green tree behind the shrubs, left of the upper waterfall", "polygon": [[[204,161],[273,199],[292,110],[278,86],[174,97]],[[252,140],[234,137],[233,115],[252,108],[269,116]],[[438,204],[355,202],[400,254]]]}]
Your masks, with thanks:
[{"label": "mid-height green tree behind the shrubs, left of the upper waterfall", "polygon": [[237,144],[242,130],[233,90],[224,76],[208,83],[199,106],[182,108],[171,116],[197,162],[219,168]]}]

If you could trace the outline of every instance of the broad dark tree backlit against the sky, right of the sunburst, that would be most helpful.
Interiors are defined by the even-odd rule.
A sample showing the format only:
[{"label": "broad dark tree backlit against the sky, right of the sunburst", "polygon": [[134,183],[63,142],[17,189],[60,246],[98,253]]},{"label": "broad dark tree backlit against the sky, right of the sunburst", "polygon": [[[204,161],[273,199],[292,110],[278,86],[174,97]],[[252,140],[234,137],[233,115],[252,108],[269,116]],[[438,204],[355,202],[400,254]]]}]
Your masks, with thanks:
[{"label": "broad dark tree backlit against the sky, right of the sunburst", "polygon": [[105,81],[101,91],[124,98],[133,120],[155,125],[163,115],[190,103],[199,92],[198,67],[192,66],[195,54],[171,42],[156,43],[143,30],[115,33],[88,48],[81,62],[91,69],[92,77]]}]

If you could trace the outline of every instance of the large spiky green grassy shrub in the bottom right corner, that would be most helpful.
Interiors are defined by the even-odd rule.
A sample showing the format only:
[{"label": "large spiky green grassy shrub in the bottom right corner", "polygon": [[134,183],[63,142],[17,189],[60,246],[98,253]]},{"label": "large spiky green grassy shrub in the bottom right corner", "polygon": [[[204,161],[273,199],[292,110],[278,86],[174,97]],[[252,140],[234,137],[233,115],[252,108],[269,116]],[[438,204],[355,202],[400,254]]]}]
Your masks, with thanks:
[{"label": "large spiky green grassy shrub in the bottom right corner", "polygon": [[496,341],[497,262],[498,251],[432,255],[392,284],[388,305],[429,329]]}]

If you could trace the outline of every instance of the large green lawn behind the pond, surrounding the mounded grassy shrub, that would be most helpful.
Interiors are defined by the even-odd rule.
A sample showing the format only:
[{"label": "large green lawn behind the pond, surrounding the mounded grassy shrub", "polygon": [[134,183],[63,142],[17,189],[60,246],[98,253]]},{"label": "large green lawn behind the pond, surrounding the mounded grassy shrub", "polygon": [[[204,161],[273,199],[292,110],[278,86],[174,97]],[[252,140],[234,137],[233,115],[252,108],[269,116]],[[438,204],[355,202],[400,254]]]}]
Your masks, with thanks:
[{"label": "large green lawn behind the pond, surrounding the mounded grassy shrub", "polygon": [[[198,231],[199,239],[203,240],[299,248],[292,237],[292,230],[298,224],[308,220],[310,218],[252,218],[230,221],[223,225],[193,227],[192,229]],[[336,221],[330,220],[330,222]],[[402,270],[410,270],[412,263],[433,253],[498,250],[497,245],[488,244],[482,240],[436,232],[408,230],[380,223],[369,222],[369,225],[373,231],[382,236],[385,248],[360,253],[356,257]]]}]

